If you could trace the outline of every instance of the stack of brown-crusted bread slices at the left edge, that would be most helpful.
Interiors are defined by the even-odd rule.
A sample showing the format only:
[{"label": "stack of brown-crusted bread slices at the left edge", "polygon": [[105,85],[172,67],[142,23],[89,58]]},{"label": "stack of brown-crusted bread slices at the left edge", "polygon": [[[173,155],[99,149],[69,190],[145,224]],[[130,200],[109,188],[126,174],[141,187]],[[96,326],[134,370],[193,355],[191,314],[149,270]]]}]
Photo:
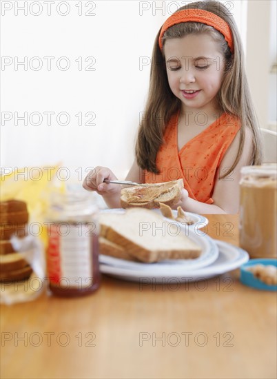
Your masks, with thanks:
[{"label": "stack of brown-crusted bread slices at the left edge", "polygon": [[25,280],[32,274],[32,267],[16,252],[10,238],[22,238],[28,234],[28,209],[24,201],[0,202],[0,282]]}]

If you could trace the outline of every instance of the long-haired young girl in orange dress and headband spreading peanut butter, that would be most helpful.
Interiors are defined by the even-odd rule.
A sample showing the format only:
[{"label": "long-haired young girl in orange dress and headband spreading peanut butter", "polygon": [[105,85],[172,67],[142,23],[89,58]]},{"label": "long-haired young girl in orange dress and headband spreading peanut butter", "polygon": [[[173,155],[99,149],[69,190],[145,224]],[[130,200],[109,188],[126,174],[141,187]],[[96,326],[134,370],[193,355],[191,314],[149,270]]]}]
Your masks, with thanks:
[{"label": "long-haired young girl in orange dress and headband spreading peanut butter", "polygon": [[[240,167],[260,164],[260,139],[242,44],[222,3],[189,3],[165,21],[154,43],[145,115],[126,179],[183,178],[178,205],[186,211],[238,212]],[[121,187],[105,178],[116,176],[96,167],[83,187],[120,207]]]}]

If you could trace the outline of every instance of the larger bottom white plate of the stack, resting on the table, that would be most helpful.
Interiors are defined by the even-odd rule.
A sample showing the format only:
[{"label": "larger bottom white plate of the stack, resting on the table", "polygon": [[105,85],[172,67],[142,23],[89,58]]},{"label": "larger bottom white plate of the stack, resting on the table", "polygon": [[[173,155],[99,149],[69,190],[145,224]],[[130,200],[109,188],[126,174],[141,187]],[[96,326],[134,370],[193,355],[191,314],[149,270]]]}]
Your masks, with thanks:
[{"label": "larger bottom white plate of the stack, resting on the table", "polygon": [[[212,238],[209,238],[212,239]],[[213,276],[224,274],[225,272],[232,271],[243,265],[249,260],[249,255],[245,250],[239,247],[230,245],[223,241],[214,240],[219,248],[218,258],[206,267],[189,270],[189,271],[174,271],[172,269],[164,268],[157,270],[153,267],[152,270],[145,269],[128,269],[125,267],[115,267],[112,265],[100,264],[100,270],[103,274],[114,276],[123,280],[132,282],[142,282],[143,280],[154,280],[155,283],[164,283],[168,279],[176,279],[179,283],[194,280],[204,280],[212,278]]]}]

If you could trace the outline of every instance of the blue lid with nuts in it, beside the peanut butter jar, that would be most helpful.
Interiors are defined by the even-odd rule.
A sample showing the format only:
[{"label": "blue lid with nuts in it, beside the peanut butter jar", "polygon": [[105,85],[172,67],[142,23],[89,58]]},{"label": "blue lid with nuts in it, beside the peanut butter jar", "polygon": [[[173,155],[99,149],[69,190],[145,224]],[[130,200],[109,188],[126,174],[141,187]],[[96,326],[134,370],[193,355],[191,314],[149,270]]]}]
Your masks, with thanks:
[{"label": "blue lid with nuts in it, beside the peanut butter jar", "polygon": [[240,282],[256,289],[277,291],[276,269],[277,260],[274,258],[250,259],[240,266]]}]

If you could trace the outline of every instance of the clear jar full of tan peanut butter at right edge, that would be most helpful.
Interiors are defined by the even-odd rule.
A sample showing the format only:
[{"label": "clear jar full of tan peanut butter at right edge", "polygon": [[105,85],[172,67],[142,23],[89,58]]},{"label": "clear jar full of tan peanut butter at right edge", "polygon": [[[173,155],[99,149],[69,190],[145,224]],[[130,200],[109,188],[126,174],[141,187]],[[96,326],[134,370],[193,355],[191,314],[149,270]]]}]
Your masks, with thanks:
[{"label": "clear jar full of tan peanut butter at right edge", "polygon": [[240,179],[240,247],[250,258],[276,258],[277,165],[246,166]]}]

